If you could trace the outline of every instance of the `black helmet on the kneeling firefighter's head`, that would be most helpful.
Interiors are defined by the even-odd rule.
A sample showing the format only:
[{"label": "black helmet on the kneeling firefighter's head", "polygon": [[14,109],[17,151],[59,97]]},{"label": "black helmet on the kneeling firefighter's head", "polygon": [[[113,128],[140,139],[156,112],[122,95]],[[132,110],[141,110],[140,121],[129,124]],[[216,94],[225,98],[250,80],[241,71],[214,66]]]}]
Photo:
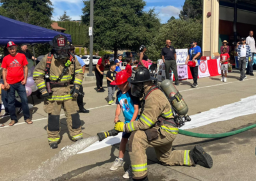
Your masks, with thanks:
[{"label": "black helmet on the kneeling firefighter's head", "polygon": [[145,67],[132,69],[132,76],[128,78],[128,82],[131,82],[131,83],[141,83],[141,82],[148,82],[152,80],[157,80],[157,79],[150,76],[149,70]]}]

